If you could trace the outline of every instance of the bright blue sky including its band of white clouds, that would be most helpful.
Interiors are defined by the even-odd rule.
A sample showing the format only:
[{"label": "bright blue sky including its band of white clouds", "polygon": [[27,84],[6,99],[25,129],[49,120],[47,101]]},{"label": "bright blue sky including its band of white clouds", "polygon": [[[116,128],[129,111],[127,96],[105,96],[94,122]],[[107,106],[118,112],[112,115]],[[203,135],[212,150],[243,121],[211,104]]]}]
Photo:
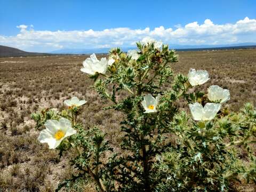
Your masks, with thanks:
[{"label": "bright blue sky including its band of white clouds", "polygon": [[[212,38],[206,39],[204,35],[202,37],[201,29],[197,31],[197,36],[191,34],[190,31],[185,31],[186,35],[166,37],[166,35],[154,33],[155,28],[161,26],[164,27],[164,33],[170,33],[181,28],[185,29],[189,23],[197,22],[199,27],[204,24],[205,20],[210,20],[213,25],[227,26],[228,24],[234,25],[231,30],[242,30],[241,25],[236,28],[236,23],[239,20],[246,20],[249,23],[250,31],[246,34],[241,31],[239,35],[227,36],[227,31],[223,39],[217,39],[214,41]],[[145,30],[149,28],[149,31],[142,31],[141,33],[133,34],[138,39],[143,36],[151,36],[157,39],[167,41],[166,43],[174,44],[220,44],[222,43],[241,43],[256,41],[253,36],[256,34],[254,31],[256,19],[256,1],[238,1],[238,0],[222,0],[222,1],[76,1],[76,0],[44,0],[44,1],[31,1],[31,0],[0,0],[0,44],[12,45],[20,49],[29,51],[45,51],[45,50],[57,50],[68,47],[107,47],[107,46],[132,46],[135,39],[127,37],[124,31],[121,31],[123,36],[119,35],[120,31],[110,31],[112,34],[117,33],[118,38],[114,38],[115,43],[105,41],[103,36],[100,36],[100,32],[105,29],[129,29],[128,34],[133,34],[134,30]],[[211,23],[208,22],[208,23]],[[21,27],[17,27],[21,26]],[[22,27],[23,26],[23,27]],[[27,27],[25,27],[27,26]],[[196,25],[190,25],[198,29]],[[242,27],[245,27],[244,24]],[[248,27],[248,26],[247,26]],[[205,28],[205,27],[202,27]],[[91,34],[90,29],[95,33]],[[161,29],[162,30],[162,29]],[[209,28],[211,30],[211,28]],[[217,31],[220,29],[218,28]],[[221,28],[222,30],[222,28]],[[62,33],[58,33],[61,31]],[[76,31],[76,33],[75,33]],[[79,31],[84,31],[85,34],[79,34]],[[94,41],[91,43],[85,43],[86,36],[89,31],[90,40],[93,37]],[[96,33],[98,31],[99,33]],[[68,33],[70,32],[70,33]],[[159,30],[158,30],[159,32]],[[185,34],[183,31],[182,33]],[[105,33],[105,32],[102,32]],[[20,36],[19,36],[20,34]],[[29,36],[30,34],[30,36]],[[191,36],[189,36],[189,34]],[[52,40],[51,36],[61,36],[58,40]],[[67,39],[64,41],[63,38]],[[213,34],[211,34],[213,35]],[[220,34],[217,34],[218,36]],[[223,34],[222,34],[223,35]],[[22,36],[22,37],[21,37]],[[36,36],[36,41],[35,41]],[[86,36],[86,37],[85,37]],[[104,38],[111,35],[105,33]],[[38,37],[38,38],[37,38]],[[77,37],[77,38],[76,38]],[[216,36],[217,37],[217,36]],[[24,39],[27,39],[27,42]],[[41,39],[39,39],[41,38]],[[72,41],[67,42],[68,39]],[[180,41],[174,41],[174,38],[180,38]],[[192,41],[191,39],[194,38]],[[23,40],[22,40],[23,39]],[[76,40],[77,39],[77,40]],[[103,41],[103,40],[104,41]],[[197,41],[196,41],[197,39]],[[200,41],[202,39],[202,41]],[[200,43],[201,42],[201,43]],[[119,43],[119,44],[118,44]],[[83,46],[84,44],[84,46]]]}]

